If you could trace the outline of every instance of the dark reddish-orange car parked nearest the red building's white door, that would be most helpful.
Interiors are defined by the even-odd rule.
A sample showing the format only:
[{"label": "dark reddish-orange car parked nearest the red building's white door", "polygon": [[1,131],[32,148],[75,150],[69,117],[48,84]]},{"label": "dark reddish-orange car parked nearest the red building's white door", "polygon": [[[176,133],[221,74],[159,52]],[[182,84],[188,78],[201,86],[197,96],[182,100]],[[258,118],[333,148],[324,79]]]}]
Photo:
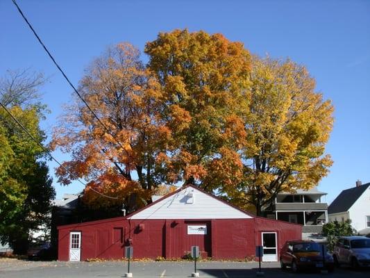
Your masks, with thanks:
[{"label": "dark reddish-orange car parked nearest the red building's white door", "polygon": [[319,243],[312,240],[291,240],[287,241],[280,250],[280,266],[282,269],[289,266],[293,272],[309,268],[333,272],[334,261],[333,257],[326,252],[326,247],[323,248]]}]

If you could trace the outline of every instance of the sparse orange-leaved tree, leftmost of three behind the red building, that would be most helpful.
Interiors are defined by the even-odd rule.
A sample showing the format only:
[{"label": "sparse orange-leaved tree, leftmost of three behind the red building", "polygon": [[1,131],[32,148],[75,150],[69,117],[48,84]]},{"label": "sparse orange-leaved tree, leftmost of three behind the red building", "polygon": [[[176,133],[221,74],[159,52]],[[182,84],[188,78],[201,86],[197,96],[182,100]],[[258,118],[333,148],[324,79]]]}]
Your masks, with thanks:
[{"label": "sparse orange-leaved tree, leftmost of three behind the red building", "polygon": [[159,117],[157,87],[140,52],[128,43],[108,48],[81,79],[79,91],[91,111],[76,99],[56,129],[52,146],[72,152],[57,175],[64,184],[87,180],[87,204],[124,202],[132,211],[150,199],[159,182],[155,156],[165,152],[170,133]]}]

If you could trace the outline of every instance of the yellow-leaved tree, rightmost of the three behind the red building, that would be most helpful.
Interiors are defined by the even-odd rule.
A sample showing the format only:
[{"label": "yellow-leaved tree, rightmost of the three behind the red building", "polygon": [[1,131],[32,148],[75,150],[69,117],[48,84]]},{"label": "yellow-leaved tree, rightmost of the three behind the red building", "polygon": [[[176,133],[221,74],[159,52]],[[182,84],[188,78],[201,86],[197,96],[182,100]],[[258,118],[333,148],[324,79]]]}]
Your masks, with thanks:
[{"label": "yellow-leaved tree, rightmost of the three behind the red building", "polygon": [[242,182],[222,188],[233,202],[252,204],[260,215],[276,194],[308,190],[326,176],[333,106],[315,92],[308,70],[291,60],[254,57],[249,81]]}]

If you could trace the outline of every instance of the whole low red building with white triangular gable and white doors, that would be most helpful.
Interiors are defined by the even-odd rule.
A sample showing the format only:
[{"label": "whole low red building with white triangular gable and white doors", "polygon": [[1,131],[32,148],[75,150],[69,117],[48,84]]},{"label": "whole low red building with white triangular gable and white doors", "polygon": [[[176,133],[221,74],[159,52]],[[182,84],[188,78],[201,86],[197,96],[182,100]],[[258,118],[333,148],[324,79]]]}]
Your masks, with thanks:
[{"label": "whole low red building with white triangular gable and white doors", "polygon": [[244,259],[263,245],[263,261],[278,261],[285,241],[301,236],[301,225],[255,217],[185,186],[126,217],[58,227],[58,259],[121,259],[127,245],[134,258],[180,258],[198,245],[203,257]]}]

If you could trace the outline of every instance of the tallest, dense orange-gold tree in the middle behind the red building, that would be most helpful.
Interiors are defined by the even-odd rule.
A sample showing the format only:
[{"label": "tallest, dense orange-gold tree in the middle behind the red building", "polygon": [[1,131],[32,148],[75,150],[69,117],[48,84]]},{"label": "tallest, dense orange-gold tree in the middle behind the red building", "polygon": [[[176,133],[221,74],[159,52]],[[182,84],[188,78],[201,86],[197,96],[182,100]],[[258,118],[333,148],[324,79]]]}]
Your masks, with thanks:
[{"label": "tallest, dense orange-gold tree in the middle behind the red building", "polygon": [[148,68],[162,92],[162,118],[171,145],[156,159],[168,183],[212,190],[242,174],[246,142],[249,51],[221,34],[175,30],[146,44]]}]

